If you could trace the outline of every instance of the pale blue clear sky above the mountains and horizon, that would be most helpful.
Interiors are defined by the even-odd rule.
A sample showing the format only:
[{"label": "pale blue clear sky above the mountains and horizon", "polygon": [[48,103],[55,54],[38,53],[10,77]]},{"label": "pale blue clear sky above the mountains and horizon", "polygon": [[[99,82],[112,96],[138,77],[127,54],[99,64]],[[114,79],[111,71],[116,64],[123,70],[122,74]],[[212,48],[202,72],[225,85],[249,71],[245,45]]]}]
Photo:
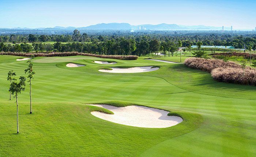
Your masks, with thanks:
[{"label": "pale blue clear sky above the mountains and horizon", "polygon": [[0,27],[97,23],[256,27],[256,0],[0,0]]}]

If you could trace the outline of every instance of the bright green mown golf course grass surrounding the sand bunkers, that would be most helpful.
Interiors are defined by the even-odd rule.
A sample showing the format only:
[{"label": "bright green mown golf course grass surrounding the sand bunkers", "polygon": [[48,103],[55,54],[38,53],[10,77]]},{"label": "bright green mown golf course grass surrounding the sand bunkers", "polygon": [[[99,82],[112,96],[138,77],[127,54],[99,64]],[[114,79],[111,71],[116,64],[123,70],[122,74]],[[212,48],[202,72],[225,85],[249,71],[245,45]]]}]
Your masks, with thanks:
[{"label": "bright green mown golf course grass surrounding the sand bunkers", "polygon": [[[33,114],[26,89],[19,95],[20,133],[15,134],[16,106],[8,101],[6,77],[9,70],[25,75],[27,63],[17,58],[0,56],[0,156],[256,156],[256,87],[216,82],[207,72],[183,64],[143,58],[33,59]],[[86,66],[66,67],[70,62]],[[131,66],[160,69],[135,74],[98,71]],[[94,117],[91,111],[108,110],[86,103],[156,107],[184,121],[162,129],[125,126]]]}]

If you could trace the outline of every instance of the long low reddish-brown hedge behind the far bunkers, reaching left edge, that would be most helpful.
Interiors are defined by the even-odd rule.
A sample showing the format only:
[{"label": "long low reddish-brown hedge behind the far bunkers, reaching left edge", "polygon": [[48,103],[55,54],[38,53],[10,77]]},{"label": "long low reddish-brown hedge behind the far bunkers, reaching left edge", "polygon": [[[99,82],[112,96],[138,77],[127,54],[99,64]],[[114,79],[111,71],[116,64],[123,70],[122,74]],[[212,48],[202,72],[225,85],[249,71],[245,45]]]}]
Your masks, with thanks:
[{"label": "long low reddish-brown hedge behind the far bunkers, reaching left edge", "polygon": [[111,59],[120,59],[120,60],[136,60],[138,56],[133,55],[97,55],[97,54],[87,54],[87,53],[80,53],[80,52],[51,52],[51,53],[19,53],[19,52],[3,52],[3,55],[13,55],[13,56],[24,56],[24,57],[54,57],[54,56],[92,56],[92,57],[99,57],[99,58],[111,58]]}]

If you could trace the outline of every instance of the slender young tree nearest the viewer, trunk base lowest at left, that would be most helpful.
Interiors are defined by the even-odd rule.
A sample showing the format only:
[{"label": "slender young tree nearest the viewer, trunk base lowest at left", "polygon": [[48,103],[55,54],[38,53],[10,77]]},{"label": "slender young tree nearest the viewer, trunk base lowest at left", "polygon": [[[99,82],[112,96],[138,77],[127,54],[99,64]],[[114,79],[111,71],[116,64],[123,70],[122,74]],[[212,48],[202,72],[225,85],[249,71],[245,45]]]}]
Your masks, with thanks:
[{"label": "slender young tree nearest the viewer, trunk base lowest at left", "polygon": [[24,76],[19,77],[19,83],[16,81],[13,81],[10,84],[9,91],[11,94],[14,95],[14,98],[16,98],[16,106],[17,106],[17,133],[19,133],[19,105],[18,105],[18,94],[22,91],[25,91],[26,86],[26,78]]}]

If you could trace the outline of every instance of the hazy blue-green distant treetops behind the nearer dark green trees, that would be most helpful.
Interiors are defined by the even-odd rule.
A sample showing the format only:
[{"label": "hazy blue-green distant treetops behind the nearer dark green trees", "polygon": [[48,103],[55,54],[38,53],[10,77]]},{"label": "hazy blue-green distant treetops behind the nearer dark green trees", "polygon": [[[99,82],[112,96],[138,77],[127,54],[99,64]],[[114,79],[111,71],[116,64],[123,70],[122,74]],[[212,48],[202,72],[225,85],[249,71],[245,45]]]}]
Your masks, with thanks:
[{"label": "hazy blue-green distant treetops behind the nearer dark green trees", "polygon": [[[158,40],[158,42],[174,42],[177,43],[178,40],[182,41],[182,47],[187,47],[189,42],[195,45],[197,42],[202,42],[203,45],[213,45],[213,46],[233,46],[235,48],[244,48],[256,46],[256,34],[246,34],[246,32],[220,34],[214,32],[183,32],[171,34],[170,32],[153,32],[148,33],[113,33],[113,32],[99,32],[96,34],[81,34],[80,31],[74,30],[73,34],[61,34],[61,35],[0,35],[1,42],[107,42],[109,40],[119,40],[120,38],[134,39],[136,42],[141,42],[142,40],[149,42],[150,40]],[[189,41],[189,42],[188,42]]]}]

